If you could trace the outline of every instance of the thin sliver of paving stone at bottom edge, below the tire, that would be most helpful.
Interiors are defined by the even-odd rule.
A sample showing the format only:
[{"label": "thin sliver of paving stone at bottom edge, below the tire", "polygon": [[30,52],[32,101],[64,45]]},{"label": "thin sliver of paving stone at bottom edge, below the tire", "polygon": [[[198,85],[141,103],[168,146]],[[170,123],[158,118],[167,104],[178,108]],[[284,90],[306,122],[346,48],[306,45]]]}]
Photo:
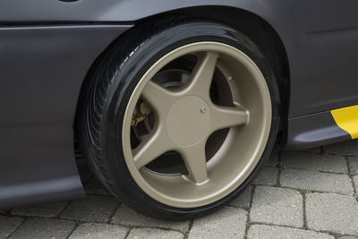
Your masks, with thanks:
[{"label": "thin sliver of paving stone at bottom edge, below the tire", "polygon": [[183,234],[170,231],[170,230],[162,230],[156,228],[134,228],[131,230],[131,233],[127,237],[128,239],[138,239],[138,238],[146,238],[146,239],[181,239],[183,238]]}]

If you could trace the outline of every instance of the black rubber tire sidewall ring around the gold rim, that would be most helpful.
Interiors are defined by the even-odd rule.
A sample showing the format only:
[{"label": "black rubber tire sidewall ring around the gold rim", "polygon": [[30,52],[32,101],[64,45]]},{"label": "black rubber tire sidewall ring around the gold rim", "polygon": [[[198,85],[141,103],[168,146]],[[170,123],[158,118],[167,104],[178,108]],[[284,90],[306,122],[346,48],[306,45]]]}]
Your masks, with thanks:
[{"label": "black rubber tire sidewall ring around the gold rim", "polygon": [[[108,89],[107,104],[103,109],[104,118],[101,125],[102,132],[104,132],[101,138],[101,148],[104,149],[102,153],[107,160],[108,174],[112,178],[111,185],[109,185],[110,191],[129,206],[140,209],[141,212],[157,218],[195,218],[203,216],[223,206],[226,201],[231,200],[238,192],[241,192],[256,175],[262,162],[270,156],[276,141],[279,124],[277,82],[267,60],[260,53],[260,49],[243,33],[226,25],[217,22],[194,21],[168,26],[158,33],[151,35],[148,32],[147,35],[147,38],[138,46],[132,46],[133,48],[130,50],[131,56],[124,58],[123,63],[113,64],[117,69]],[[271,96],[272,123],[268,143],[260,162],[243,184],[225,198],[209,205],[200,208],[177,209],[151,199],[134,182],[127,168],[122,147],[124,113],[132,96],[132,91],[144,73],[153,64],[177,47],[200,41],[215,41],[235,47],[248,55],[260,68],[267,81]]]}]

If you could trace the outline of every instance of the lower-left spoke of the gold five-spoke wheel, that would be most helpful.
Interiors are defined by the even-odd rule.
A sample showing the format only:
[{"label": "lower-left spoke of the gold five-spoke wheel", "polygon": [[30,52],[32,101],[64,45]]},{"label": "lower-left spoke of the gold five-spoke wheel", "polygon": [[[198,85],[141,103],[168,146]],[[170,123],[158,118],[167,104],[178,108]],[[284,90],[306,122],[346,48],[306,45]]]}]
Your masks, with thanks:
[{"label": "lower-left spoke of the gold five-spoke wheel", "polygon": [[159,126],[158,129],[151,132],[138,147],[132,149],[134,163],[137,168],[141,168],[170,149],[170,140],[166,137],[166,132]]}]

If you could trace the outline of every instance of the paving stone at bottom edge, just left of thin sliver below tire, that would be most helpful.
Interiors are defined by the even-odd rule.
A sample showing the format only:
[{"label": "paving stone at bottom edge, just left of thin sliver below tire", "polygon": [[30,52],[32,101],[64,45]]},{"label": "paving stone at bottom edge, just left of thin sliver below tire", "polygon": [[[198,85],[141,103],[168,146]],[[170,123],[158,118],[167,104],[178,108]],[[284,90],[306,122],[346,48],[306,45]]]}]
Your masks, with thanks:
[{"label": "paving stone at bottom edge, just left of thin sliver below tire", "polygon": [[85,223],[78,226],[69,237],[70,239],[97,239],[97,238],[125,238],[129,228],[117,225]]}]

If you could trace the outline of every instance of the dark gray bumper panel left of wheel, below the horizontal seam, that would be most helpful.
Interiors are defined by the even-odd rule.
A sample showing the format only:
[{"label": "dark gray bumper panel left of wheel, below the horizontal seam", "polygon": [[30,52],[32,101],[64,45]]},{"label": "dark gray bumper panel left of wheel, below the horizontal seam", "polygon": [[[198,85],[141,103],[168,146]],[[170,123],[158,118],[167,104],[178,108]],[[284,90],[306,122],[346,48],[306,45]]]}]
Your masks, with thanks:
[{"label": "dark gray bumper panel left of wheel, below the horizontal seam", "polygon": [[0,28],[0,207],[83,195],[72,130],[81,83],[128,28]]}]

